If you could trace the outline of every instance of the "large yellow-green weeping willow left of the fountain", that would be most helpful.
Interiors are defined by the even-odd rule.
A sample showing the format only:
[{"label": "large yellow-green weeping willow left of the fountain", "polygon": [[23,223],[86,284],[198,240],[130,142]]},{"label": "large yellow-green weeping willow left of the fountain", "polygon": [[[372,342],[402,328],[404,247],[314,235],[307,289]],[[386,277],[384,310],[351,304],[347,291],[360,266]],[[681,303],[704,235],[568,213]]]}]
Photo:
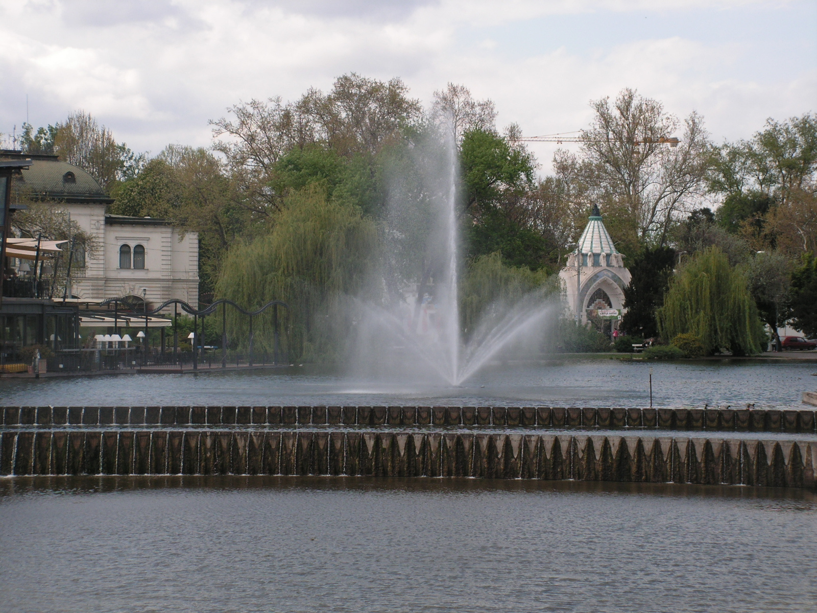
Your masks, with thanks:
[{"label": "large yellow-green weeping willow left of the fountain", "polygon": [[[271,300],[279,310],[282,349],[291,360],[332,360],[337,329],[350,322],[343,297],[364,285],[376,240],[373,221],[352,204],[328,199],[323,190],[292,193],[272,230],[236,244],[221,267],[217,296],[255,310]],[[246,347],[248,318],[230,312],[230,337]],[[254,351],[272,351],[272,309],[253,320]]]}]

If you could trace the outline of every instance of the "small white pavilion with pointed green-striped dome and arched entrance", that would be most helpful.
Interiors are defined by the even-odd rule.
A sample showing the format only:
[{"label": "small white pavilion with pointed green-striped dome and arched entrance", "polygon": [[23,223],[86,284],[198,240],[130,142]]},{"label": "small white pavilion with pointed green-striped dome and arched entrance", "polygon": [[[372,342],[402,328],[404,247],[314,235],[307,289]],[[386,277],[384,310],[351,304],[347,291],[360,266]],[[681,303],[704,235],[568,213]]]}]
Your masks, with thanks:
[{"label": "small white pavilion with pointed green-striped dome and arched entrance", "polygon": [[624,288],[631,275],[601,221],[597,206],[593,207],[576,251],[569,255],[559,279],[567,307],[581,323],[601,319],[618,325],[624,309]]}]

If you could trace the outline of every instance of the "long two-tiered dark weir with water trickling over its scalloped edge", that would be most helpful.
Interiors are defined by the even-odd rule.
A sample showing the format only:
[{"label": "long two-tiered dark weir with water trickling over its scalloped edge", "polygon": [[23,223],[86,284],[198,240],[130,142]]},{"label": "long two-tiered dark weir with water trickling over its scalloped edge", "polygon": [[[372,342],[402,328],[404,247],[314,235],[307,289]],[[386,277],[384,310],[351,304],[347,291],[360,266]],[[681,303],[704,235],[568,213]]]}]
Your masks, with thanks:
[{"label": "long two-tiered dark weir with water trickling over its scalloped edge", "polygon": [[0,475],[366,475],[815,489],[814,411],[5,407]]}]

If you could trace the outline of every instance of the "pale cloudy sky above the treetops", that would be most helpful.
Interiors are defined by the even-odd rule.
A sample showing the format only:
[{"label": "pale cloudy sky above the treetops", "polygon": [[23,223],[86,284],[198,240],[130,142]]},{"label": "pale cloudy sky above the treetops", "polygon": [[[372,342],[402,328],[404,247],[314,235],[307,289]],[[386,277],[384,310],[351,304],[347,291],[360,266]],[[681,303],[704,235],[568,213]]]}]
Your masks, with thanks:
[{"label": "pale cloudy sky above the treetops", "polygon": [[622,87],[699,111],[716,141],[817,110],[814,0],[0,0],[0,39],[4,135],[28,95],[35,127],[83,109],[154,154],[352,71],[426,103],[465,84],[531,136],[585,127]]}]

